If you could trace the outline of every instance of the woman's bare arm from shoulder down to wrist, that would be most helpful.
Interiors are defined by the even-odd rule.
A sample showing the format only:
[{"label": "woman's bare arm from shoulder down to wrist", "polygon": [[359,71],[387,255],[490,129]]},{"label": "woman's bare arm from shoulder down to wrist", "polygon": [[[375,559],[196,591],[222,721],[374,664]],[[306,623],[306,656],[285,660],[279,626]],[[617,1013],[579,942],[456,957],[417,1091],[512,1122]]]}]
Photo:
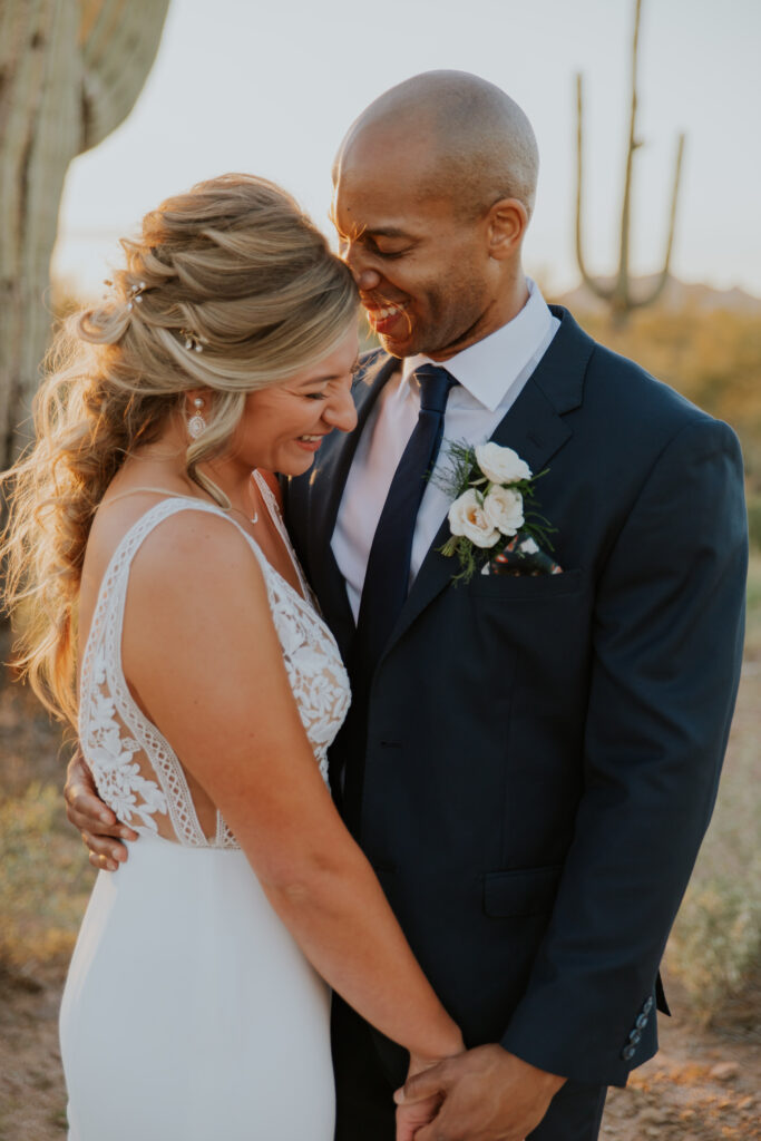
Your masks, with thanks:
[{"label": "woman's bare arm from shoulder down to wrist", "polygon": [[124,673],[208,792],[323,978],[422,1058],[462,1049],[301,725],[259,565],[224,519],[183,512],[132,565]]}]

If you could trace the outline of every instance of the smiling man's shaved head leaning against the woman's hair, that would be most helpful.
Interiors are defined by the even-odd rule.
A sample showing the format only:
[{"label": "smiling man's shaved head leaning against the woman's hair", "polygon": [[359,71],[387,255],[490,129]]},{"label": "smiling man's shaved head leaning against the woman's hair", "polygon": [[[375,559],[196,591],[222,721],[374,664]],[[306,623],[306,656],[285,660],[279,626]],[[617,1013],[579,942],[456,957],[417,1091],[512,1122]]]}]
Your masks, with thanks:
[{"label": "smiling man's shaved head leaning against the woman's hair", "polygon": [[446,359],[515,316],[537,168],[520,107],[464,72],[415,75],[353,123],[333,220],[389,353]]}]

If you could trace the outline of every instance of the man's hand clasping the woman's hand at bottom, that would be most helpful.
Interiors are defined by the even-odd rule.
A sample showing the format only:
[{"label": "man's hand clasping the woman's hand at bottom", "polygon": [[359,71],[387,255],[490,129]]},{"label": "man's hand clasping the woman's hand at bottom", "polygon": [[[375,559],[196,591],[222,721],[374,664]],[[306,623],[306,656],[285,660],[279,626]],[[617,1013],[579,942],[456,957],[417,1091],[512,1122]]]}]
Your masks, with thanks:
[{"label": "man's hand clasping the woman's hand at bottom", "polygon": [[414,1102],[444,1099],[415,1141],[524,1141],[565,1081],[502,1046],[477,1046],[408,1078],[395,1101],[411,1110]]}]

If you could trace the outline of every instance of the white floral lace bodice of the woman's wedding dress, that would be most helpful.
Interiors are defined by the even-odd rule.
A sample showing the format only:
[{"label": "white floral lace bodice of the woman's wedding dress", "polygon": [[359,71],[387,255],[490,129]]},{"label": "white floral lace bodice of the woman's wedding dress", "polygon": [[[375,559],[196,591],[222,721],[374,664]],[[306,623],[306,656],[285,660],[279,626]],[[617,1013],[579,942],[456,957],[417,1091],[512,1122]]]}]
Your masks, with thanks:
[{"label": "white floral lace bodice of the woman's wedding dress", "polygon": [[325,780],[327,747],[350,701],[338,647],[310,600],[276,501],[264,480],[258,484],[293,559],[307,601],[267,561],[254,540],[220,508],[191,497],[167,499],[146,511],[116,548],[100,584],[82,658],[80,744],[100,796],[136,832],[152,832],[187,847],[238,845],[219,812],[214,835],[204,835],[183,766],[169,742],[133,701],[122,672],[122,624],[130,566],[154,527],[178,511],[210,511],[222,516],[244,535],[264,574],[293,696]]}]

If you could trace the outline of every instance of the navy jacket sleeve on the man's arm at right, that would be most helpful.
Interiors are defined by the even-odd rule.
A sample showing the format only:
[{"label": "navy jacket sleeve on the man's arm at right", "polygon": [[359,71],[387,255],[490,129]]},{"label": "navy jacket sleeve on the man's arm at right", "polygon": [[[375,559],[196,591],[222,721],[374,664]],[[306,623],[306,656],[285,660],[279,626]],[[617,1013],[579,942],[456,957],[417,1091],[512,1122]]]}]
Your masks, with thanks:
[{"label": "navy jacket sleeve on the man's arm at right", "polygon": [[658,963],[729,735],[746,567],[737,439],[721,422],[691,421],[655,462],[598,583],[584,792],[502,1039],[542,1069],[624,1085],[653,1052]]}]

